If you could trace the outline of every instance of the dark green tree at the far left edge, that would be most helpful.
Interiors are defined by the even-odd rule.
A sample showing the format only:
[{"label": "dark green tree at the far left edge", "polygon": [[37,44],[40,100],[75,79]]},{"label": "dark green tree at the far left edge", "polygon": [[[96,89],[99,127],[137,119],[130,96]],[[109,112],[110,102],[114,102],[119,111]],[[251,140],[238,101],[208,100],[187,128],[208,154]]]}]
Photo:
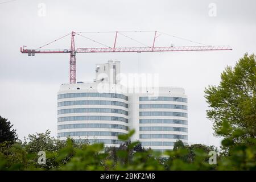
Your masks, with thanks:
[{"label": "dark green tree at the far left edge", "polygon": [[0,143],[11,142],[14,143],[18,137],[16,130],[11,129],[13,125],[6,118],[0,116]]}]

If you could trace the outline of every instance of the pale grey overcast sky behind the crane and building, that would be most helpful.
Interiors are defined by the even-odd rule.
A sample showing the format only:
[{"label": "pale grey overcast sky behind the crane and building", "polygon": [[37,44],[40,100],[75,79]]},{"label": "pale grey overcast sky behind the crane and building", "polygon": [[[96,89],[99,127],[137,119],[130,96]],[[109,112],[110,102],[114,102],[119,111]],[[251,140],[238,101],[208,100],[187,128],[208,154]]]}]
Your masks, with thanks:
[{"label": "pale grey overcast sky behind the crane and building", "polygon": [[[60,84],[69,81],[68,54],[28,57],[19,52],[21,46],[42,46],[72,30],[158,30],[233,48],[233,51],[141,53],[142,73],[158,73],[160,85],[185,89],[189,143],[220,145],[220,139],[213,137],[212,122],[206,117],[204,88],[220,82],[226,65],[234,66],[245,52],[255,53],[254,0],[7,1],[10,0],[0,0],[0,115],[14,124],[20,139],[47,129],[56,135],[56,95]],[[151,46],[153,34],[127,35]],[[88,36],[113,46],[114,34]],[[118,38],[117,46],[139,46]],[[79,36],[75,41],[76,47],[99,46]],[[156,39],[156,46],[168,44],[191,46],[191,42],[164,35]],[[48,48],[69,47],[70,36]],[[77,55],[77,81],[92,81],[95,64],[110,59],[121,61],[123,73],[138,72],[138,53],[83,53]]]}]

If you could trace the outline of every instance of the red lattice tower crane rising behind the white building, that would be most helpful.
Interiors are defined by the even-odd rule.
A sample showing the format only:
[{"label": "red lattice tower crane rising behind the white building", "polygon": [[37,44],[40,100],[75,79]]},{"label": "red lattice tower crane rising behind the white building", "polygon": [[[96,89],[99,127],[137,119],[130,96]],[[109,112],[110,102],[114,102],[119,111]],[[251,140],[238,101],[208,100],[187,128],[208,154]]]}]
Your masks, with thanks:
[{"label": "red lattice tower crane rising behind the white building", "polygon": [[[138,32],[138,31],[134,31],[134,32]],[[141,31],[139,31],[141,32]],[[154,34],[154,40],[153,40],[153,44],[152,46],[144,46],[144,47],[115,47],[116,43],[117,43],[117,35],[121,34],[123,36],[126,36],[124,34],[122,34],[122,32],[115,32],[115,38],[114,38],[114,46],[113,47],[108,47],[105,46],[104,44],[101,44],[95,40],[92,40],[90,38],[87,38],[83,35],[81,35],[80,33],[82,32],[74,32],[72,31],[71,33],[62,36],[59,39],[53,40],[52,42],[49,42],[47,44],[45,44],[44,46],[41,46],[39,48],[36,49],[25,49],[23,47],[20,47],[20,52],[21,53],[27,53],[28,56],[35,56],[35,53],[70,53],[70,60],[69,60],[69,82],[71,84],[75,84],[76,83],[76,53],[100,53],[100,52],[172,52],[172,51],[225,51],[225,50],[232,50],[232,48],[230,46],[207,46],[205,44],[201,44],[203,46],[180,46],[180,47],[175,47],[175,46],[163,46],[163,47],[155,47],[155,39],[157,38],[156,33],[157,31],[155,31]],[[161,34],[165,34],[163,32],[159,32]],[[57,40],[60,40],[68,35],[71,35],[71,48],[70,49],[42,49],[45,46],[48,46],[49,44],[56,42]],[[99,43],[102,46],[105,47],[89,47],[89,48],[75,48],[75,35],[80,35],[83,36],[86,39],[92,40],[93,42]],[[168,35],[168,34],[166,34]],[[169,35],[172,36],[172,35]],[[131,40],[135,40],[133,38],[130,38],[129,36],[126,36],[127,38],[131,39]],[[172,36],[174,38],[179,38],[177,36]],[[179,38],[179,39],[183,39],[183,38]],[[187,39],[184,39],[187,40]],[[135,40],[136,42],[138,42],[137,40]],[[188,40],[189,42],[193,42],[191,40]],[[140,43],[140,42],[139,42]],[[197,42],[194,42],[197,43]]]}]

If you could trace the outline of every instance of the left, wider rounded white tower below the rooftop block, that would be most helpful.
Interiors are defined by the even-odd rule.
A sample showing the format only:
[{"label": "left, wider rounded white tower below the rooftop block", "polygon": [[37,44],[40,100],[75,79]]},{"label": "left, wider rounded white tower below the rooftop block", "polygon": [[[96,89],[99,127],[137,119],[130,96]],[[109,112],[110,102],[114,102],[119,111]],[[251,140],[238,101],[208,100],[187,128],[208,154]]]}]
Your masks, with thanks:
[{"label": "left, wider rounded white tower below the rooftop block", "polygon": [[128,97],[98,93],[98,84],[63,84],[57,95],[57,137],[118,147],[119,134],[128,131]]}]

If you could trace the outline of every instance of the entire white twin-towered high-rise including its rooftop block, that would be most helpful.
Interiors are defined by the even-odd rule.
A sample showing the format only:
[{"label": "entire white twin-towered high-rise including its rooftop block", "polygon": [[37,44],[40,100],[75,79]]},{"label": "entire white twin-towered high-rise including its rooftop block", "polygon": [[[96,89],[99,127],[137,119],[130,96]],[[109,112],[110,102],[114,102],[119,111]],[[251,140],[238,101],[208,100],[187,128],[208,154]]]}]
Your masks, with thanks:
[{"label": "entire white twin-towered high-rise including its rooftop block", "polygon": [[119,134],[135,129],[131,140],[145,148],[172,150],[176,140],[188,142],[187,96],[183,88],[147,88],[129,93],[119,78],[119,61],[96,64],[94,82],[63,84],[57,96],[57,137],[104,142],[118,147]]}]

